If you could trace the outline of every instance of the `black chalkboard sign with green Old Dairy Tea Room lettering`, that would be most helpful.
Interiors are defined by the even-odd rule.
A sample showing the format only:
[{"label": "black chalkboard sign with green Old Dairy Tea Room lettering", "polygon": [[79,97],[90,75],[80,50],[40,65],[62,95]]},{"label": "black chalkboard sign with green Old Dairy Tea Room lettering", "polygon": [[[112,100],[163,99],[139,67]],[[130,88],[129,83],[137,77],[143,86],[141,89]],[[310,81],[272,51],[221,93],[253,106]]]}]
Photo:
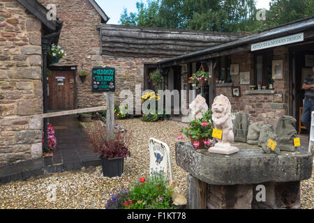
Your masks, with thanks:
[{"label": "black chalkboard sign with green Old Dairy Tea Room lettering", "polygon": [[91,89],[93,92],[114,92],[116,70],[114,68],[93,68]]}]

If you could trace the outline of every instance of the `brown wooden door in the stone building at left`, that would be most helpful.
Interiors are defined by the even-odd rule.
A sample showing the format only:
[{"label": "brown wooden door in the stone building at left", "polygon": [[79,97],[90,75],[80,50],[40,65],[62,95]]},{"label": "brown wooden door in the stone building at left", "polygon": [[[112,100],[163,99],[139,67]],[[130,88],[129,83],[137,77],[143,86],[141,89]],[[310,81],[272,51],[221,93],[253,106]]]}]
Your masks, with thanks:
[{"label": "brown wooden door in the stone building at left", "polygon": [[49,111],[75,109],[75,71],[52,70],[48,80]]}]

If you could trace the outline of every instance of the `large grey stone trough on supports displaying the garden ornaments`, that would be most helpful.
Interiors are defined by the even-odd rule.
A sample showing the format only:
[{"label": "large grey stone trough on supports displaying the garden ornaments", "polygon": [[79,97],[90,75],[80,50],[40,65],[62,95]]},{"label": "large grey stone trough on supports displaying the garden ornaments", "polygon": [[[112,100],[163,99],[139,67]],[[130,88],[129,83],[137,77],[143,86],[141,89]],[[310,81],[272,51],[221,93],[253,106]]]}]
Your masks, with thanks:
[{"label": "large grey stone trough on supports displaying the garden ornaments", "polygon": [[[234,144],[232,155],[176,144],[176,160],[188,174],[188,206],[192,209],[300,208],[300,181],[311,178],[313,156],[305,148],[280,155],[258,146]],[[264,201],[256,199],[264,185]],[[257,187],[258,186],[258,187]]]}]

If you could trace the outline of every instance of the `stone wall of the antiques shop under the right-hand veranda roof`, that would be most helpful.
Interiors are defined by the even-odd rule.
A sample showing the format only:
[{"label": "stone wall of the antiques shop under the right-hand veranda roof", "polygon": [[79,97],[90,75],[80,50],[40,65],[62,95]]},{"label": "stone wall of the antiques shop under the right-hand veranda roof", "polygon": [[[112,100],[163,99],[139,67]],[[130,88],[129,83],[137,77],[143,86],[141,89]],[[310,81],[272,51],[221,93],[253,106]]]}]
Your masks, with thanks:
[{"label": "stone wall of the antiques shop under the right-hand veranda roof", "polygon": [[[274,59],[283,59],[284,68],[286,56],[285,47],[274,48]],[[251,84],[254,79],[254,60],[251,52],[244,52],[240,54],[232,54],[232,63],[239,63],[239,72],[251,71]],[[250,114],[251,122],[263,122],[276,124],[280,116],[287,114],[288,90],[286,77],[288,70],[284,69],[284,79],[276,79],[274,82],[274,89],[276,93],[283,93],[283,102],[274,102],[274,93],[266,94],[248,94],[250,85],[240,85],[240,76],[232,76],[233,86],[241,86],[241,98],[232,97],[232,87],[217,87],[217,95],[226,95],[232,105],[234,112],[246,112]]]}]

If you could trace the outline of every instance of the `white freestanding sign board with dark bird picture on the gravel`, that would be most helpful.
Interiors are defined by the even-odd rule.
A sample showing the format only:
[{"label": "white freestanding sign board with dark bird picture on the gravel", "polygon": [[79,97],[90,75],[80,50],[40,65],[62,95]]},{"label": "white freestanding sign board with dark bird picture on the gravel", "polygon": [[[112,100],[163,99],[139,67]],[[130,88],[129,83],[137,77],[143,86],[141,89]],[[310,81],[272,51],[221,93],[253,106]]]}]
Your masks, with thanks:
[{"label": "white freestanding sign board with dark bird picture on the gravel", "polygon": [[167,167],[169,164],[170,180],[173,180],[169,146],[162,141],[151,138],[149,139],[149,155],[149,174],[162,171],[165,173],[165,177],[167,177]]}]

